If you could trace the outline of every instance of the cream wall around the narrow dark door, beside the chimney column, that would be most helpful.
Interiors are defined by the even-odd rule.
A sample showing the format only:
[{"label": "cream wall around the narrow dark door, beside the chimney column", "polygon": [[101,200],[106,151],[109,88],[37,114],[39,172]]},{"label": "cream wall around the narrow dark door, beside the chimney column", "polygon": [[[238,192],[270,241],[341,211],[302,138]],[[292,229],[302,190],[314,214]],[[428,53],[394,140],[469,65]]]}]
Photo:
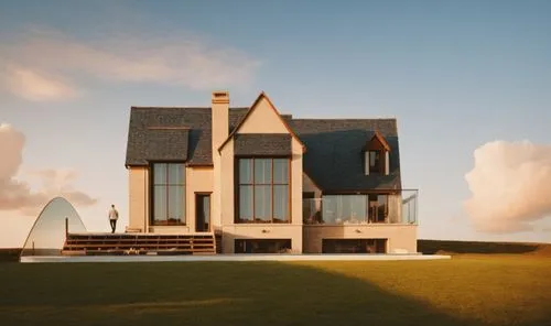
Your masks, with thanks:
[{"label": "cream wall around the narrow dark door, beside the chimney column", "polygon": [[[185,169],[185,213],[186,226],[191,232],[195,231],[195,193],[212,193],[213,192],[213,167],[210,166],[196,166]],[[210,206],[213,206],[213,198],[210,195]],[[213,209],[210,208],[210,215]],[[214,224],[214,221],[213,221]],[[218,221],[219,225],[219,221]]]}]

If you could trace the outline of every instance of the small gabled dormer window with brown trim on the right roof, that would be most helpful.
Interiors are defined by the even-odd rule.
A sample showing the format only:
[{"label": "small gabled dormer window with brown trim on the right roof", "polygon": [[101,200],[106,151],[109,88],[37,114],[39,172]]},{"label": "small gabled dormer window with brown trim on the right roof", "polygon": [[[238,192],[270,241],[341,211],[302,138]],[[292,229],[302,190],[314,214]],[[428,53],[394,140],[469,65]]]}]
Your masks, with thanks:
[{"label": "small gabled dormer window with brown trim on the right roof", "polygon": [[374,137],[364,146],[364,171],[366,175],[382,174],[390,172],[390,146],[387,141],[376,131]]}]

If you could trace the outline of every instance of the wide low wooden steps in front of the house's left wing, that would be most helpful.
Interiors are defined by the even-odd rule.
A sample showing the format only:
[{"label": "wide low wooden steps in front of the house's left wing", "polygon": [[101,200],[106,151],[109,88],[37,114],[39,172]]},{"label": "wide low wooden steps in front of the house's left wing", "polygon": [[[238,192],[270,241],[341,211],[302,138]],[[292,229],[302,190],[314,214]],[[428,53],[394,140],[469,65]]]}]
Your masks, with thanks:
[{"label": "wide low wooden steps in front of the house's left wing", "polygon": [[67,233],[64,256],[216,254],[214,233]]}]

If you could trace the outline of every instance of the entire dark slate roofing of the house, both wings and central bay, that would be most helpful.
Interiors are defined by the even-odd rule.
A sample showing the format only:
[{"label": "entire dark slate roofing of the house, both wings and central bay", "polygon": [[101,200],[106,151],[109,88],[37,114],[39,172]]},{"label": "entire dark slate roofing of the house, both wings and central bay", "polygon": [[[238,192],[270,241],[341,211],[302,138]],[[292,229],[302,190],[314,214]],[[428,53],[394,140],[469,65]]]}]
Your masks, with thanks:
[{"label": "entire dark slate roofing of the house, both wings and central bay", "polygon": [[[231,132],[248,108],[230,108]],[[304,143],[304,172],[324,192],[355,192],[401,188],[400,155],[396,119],[293,119],[282,116]],[[148,161],[186,161],[188,165],[212,165],[210,108],[131,109],[127,165]],[[187,128],[187,129],[151,129]],[[363,146],[375,131],[391,148],[390,174],[365,175]],[[236,154],[284,154],[290,135],[236,135]]]}]

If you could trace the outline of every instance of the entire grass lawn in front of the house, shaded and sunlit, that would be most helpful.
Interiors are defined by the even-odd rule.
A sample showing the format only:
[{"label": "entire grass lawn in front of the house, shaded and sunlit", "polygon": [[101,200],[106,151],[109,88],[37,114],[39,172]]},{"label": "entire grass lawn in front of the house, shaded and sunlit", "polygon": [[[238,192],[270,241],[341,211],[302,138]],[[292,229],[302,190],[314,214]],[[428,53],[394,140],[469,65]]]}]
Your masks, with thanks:
[{"label": "entire grass lawn in front of the house, shaded and sunlit", "polygon": [[1,325],[551,325],[551,259],[0,264]]}]

